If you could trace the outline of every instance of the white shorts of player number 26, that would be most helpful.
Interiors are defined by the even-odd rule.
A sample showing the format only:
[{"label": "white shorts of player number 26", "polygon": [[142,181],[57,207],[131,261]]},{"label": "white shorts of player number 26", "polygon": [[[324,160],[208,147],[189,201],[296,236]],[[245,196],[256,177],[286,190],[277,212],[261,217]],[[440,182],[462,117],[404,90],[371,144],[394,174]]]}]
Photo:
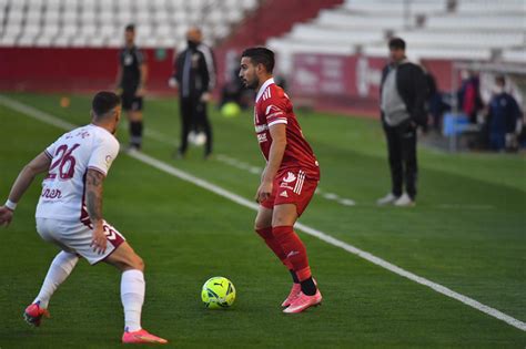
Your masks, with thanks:
[{"label": "white shorts of player number 26", "polygon": [[108,239],[105,252],[101,255],[93,252],[91,242],[93,239],[93,229],[91,225],[80,220],[59,220],[52,218],[37,217],[37,232],[40,236],[68,253],[84,257],[91,265],[99,263],[111,255],[125,238],[114,227],[103,222],[104,234]]}]

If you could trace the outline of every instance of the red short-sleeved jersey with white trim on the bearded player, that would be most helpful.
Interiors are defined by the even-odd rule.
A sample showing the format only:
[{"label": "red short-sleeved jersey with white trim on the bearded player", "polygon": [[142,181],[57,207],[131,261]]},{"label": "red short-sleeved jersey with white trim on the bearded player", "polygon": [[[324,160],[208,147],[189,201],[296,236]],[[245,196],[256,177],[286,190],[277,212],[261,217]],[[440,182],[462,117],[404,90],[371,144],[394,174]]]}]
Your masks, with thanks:
[{"label": "red short-sleeved jersey with white trim on the bearded player", "polygon": [[308,177],[320,179],[316,157],[303,137],[291,100],[283,89],[274,83],[274,79],[269,79],[257,92],[254,106],[255,133],[266,161],[272,144],[269,127],[279,123],[286,124],[286,146],[279,172],[301,168]]}]

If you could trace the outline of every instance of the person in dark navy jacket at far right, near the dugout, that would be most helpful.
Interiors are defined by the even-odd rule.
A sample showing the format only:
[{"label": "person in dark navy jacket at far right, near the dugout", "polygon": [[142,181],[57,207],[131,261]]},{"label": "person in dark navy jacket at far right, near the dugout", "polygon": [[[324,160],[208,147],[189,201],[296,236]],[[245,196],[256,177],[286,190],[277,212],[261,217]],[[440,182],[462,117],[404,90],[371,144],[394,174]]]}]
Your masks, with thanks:
[{"label": "person in dark navy jacket at far right, near the dugout", "polygon": [[517,147],[522,129],[522,112],[514,96],[505,91],[506,79],[495,78],[495,93],[489,101],[489,144],[495,151]]}]

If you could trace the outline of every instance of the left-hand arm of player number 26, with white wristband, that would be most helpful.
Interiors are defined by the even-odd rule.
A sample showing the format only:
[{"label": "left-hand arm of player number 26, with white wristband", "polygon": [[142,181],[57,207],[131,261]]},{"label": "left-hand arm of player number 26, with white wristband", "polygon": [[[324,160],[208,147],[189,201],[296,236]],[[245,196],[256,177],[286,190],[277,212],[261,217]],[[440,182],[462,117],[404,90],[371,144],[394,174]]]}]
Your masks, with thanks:
[{"label": "left-hand arm of player number 26, with white wristband", "polygon": [[14,181],[11,187],[8,201],[3,206],[0,206],[0,225],[9,225],[11,223],[14,208],[23,193],[26,193],[38,174],[49,170],[50,164],[51,160],[42,152],[20,171],[17,181]]}]

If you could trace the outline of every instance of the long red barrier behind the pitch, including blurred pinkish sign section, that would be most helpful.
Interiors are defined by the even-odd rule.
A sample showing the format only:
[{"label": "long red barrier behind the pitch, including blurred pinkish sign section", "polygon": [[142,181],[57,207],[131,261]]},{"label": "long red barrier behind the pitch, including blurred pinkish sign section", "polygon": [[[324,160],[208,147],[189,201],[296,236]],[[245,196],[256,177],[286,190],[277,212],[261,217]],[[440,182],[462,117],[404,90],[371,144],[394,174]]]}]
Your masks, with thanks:
[{"label": "long red barrier behind the pitch, including blurred pinkish sign section", "polygon": [[[234,50],[235,51],[235,50]],[[113,89],[118,49],[0,48],[0,90],[83,92]],[[148,90],[175,94],[168,88],[173,50],[144,50],[148,55]],[[227,50],[218,50],[219,82],[233,70],[225,62]],[[233,53],[233,58],[235,53]],[[231,63],[236,64],[236,60]],[[354,114],[377,115],[381,70],[386,59],[361,55],[296,54],[290,76],[290,93],[296,104]],[[428,60],[438,88],[452,86],[452,61]],[[219,89],[218,89],[219,90]]]}]

